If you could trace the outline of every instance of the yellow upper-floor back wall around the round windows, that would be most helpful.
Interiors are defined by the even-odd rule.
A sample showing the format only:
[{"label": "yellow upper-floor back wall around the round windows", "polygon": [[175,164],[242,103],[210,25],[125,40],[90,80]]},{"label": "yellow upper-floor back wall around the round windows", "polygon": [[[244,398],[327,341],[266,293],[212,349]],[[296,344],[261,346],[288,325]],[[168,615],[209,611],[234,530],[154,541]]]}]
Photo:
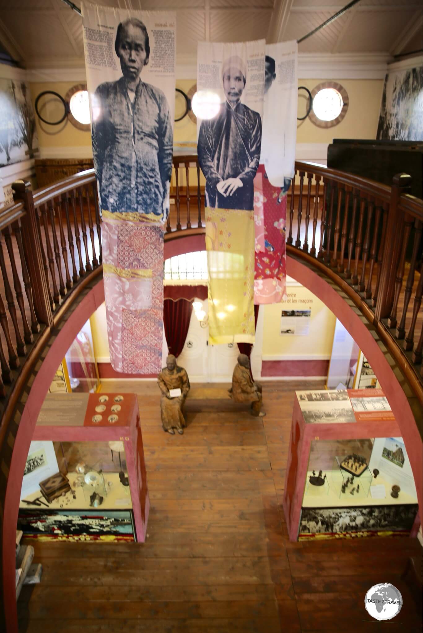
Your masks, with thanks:
[{"label": "yellow upper-floor back wall around the round windows", "polygon": [[[315,85],[324,79],[299,79],[298,85],[305,85],[312,90]],[[42,91],[52,90],[65,97],[66,92],[77,82],[56,83],[32,83],[30,84],[32,100]],[[352,139],[374,139],[376,137],[379,110],[381,107],[382,79],[344,79],[339,80],[348,92],[350,105],[344,120],[328,129],[322,129],[313,125],[310,119],[298,122],[298,143],[330,143],[334,137]],[[188,92],[195,84],[195,79],[178,80],[176,86]],[[53,106],[53,103],[51,106]],[[58,103],[57,101],[55,102]],[[51,107],[49,115],[58,113],[56,105]],[[58,126],[46,125],[37,117],[37,131],[40,147],[44,150],[57,147],[88,147],[91,148],[91,134],[80,132],[72,123],[66,122]],[[174,141],[196,142],[196,125],[186,116],[182,121],[175,123]],[[84,158],[84,157],[82,157]]]}]

